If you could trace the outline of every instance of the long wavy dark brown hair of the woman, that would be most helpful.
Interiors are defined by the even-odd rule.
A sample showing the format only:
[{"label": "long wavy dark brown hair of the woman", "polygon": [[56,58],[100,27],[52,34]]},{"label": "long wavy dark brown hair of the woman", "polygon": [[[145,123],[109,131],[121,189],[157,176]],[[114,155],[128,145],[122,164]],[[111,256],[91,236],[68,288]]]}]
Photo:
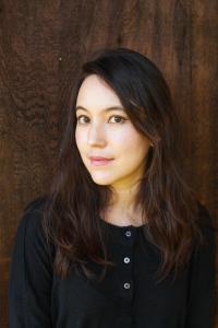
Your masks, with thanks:
[{"label": "long wavy dark brown hair of the woman", "polygon": [[107,82],[135,129],[154,144],[146,156],[135,204],[143,209],[146,238],[161,254],[158,282],[173,269],[175,279],[189,262],[195,237],[203,239],[197,224],[198,201],[183,176],[181,126],[169,86],[153,61],[128,48],[96,51],[74,83],[58,169],[44,208],[44,231],[56,246],[53,269],[65,279],[74,263],[90,277],[88,262],[94,261],[104,268],[102,279],[107,266],[114,266],[107,257],[105,234],[97,220],[112,191],[110,186],[94,183],[75,142],[76,98],[90,74]]}]

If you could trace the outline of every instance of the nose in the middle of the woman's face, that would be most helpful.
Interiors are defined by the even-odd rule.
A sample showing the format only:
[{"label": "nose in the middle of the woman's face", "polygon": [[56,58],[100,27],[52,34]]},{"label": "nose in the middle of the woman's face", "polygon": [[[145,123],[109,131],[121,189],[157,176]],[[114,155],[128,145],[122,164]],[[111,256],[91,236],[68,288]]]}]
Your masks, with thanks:
[{"label": "nose in the middle of the woman's face", "polygon": [[88,131],[88,145],[92,147],[105,147],[106,145],[106,132],[102,124],[90,125]]}]

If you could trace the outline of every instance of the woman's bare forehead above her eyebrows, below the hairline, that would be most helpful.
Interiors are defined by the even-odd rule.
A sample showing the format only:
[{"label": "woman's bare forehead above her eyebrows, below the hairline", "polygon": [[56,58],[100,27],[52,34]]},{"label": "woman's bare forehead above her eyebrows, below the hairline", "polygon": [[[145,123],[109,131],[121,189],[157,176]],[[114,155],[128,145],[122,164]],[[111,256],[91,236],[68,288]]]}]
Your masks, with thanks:
[{"label": "woman's bare forehead above her eyebrows, below the hairline", "polygon": [[76,106],[100,109],[118,105],[122,106],[118,95],[98,75],[92,74],[83,81],[78,90]]}]

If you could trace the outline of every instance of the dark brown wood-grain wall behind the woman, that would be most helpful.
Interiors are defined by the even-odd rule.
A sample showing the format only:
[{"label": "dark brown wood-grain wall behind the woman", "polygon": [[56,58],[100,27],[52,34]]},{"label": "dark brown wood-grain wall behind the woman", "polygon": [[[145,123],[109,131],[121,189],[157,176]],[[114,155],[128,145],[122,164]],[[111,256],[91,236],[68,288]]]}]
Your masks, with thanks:
[{"label": "dark brown wood-grain wall behind the woman", "polygon": [[217,0],[0,1],[2,328],[16,226],[48,188],[74,77],[92,51],[130,47],[161,69],[187,137],[185,174],[216,216],[217,12]]}]

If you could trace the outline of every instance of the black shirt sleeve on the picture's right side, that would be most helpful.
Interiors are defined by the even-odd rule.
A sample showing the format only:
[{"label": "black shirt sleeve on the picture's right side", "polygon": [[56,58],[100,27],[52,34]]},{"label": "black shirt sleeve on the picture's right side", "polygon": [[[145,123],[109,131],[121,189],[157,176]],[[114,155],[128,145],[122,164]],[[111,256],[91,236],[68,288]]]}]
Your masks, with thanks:
[{"label": "black shirt sleeve on the picture's right side", "polygon": [[190,269],[186,328],[214,328],[215,325],[215,233],[213,218],[201,204],[199,224],[206,243],[195,247]]}]

